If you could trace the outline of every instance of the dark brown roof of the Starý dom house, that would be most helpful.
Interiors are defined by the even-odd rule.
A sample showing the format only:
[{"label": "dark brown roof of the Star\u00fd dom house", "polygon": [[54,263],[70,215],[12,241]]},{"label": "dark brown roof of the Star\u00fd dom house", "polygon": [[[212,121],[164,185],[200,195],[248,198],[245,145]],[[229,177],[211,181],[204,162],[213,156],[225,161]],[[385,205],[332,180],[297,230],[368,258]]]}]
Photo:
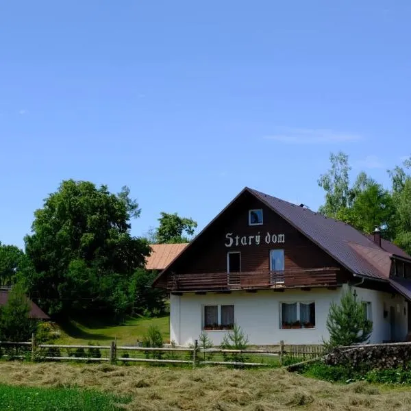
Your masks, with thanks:
[{"label": "dark brown roof of the Star\u00fd dom house", "polygon": [[[347,223],[330,219],[317,212],[312,212],[308,208],[288,203],[288,201],[247,187],[192,240],[190,245],[195,242],[214,221],[219,219],[219,216],[244,192],[249,192],[251,195],[260,199],[266,206],[279,214],[284,220],[288,221],[290,225],[298,229],[299,232],[312,240],[312,242],[353,274],[386,280],[389,277],[390,258],[393,254],[403,256],[404,258],[411,258],[399,249],[399,247],[386,240],[383,240],[382,247],[379,247],[368,236],[362,234],[362,232],[359,232]],[[190,248],[190,245],[188,245],[179,256],[184,254],[186,250]],[[169,266],[171,266],[177,258],[175,258]],[[169,266],[167,266],[166,269],[168,269]],[[166,269],[164,269],[162,273],[164,273]],[[162,273],[160,273],[157,279]],[[155,279],[155,281],[157,281],[157,279]]]}]

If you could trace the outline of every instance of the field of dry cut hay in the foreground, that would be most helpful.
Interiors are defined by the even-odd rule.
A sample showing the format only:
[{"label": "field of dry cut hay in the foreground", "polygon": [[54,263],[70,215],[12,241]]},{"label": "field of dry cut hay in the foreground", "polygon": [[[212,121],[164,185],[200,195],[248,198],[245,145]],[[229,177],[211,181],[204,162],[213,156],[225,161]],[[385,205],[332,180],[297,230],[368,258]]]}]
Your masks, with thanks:
[{"label": "field of dry cut hay in the foreground", "polygon": [[[129,411],[411,409],[410,388],[371,386],[366,382],[331,384],[282,369],[234,370],[210,367],[192,370],[160,366],[0,362],[0,384],[29,386],[31,389],[87,388],[131,398],[129,403],[121,406]],[[0,395],[1,404],[6,397],[1,398]],[[1,407],[3,409],[5,408]],[[99,411],[103,408],[96,406],[90,409],[71,409]]]}]

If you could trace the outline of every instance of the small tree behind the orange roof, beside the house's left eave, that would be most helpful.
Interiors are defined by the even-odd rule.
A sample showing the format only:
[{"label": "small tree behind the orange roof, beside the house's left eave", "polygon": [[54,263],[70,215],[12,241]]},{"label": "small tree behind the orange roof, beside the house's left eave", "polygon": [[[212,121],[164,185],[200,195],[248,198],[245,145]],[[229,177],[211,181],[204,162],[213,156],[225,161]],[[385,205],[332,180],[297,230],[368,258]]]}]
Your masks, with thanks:
[{"label": "small tree behind the orange roof, beside the house's left eave", "polygon": [[160,215],[160,219],[158,219],[160,226],[155,232],[155,242],[165,244],[190,241],[187,236],[194,234],[197,227],[196,221],[180,217],[176,212],[174,214],[161,212]]}]

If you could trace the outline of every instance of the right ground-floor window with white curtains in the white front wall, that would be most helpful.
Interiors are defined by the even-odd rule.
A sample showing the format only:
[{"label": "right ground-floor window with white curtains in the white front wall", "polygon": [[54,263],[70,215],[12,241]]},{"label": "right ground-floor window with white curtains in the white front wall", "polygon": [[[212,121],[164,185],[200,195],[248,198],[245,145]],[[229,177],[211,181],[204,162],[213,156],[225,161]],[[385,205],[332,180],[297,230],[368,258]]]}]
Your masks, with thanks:
[{"label": "right ground-floor window with white curtains in the white front wall", "polygon": [[280,303],[280,328],[314,328],[315,303]]}]

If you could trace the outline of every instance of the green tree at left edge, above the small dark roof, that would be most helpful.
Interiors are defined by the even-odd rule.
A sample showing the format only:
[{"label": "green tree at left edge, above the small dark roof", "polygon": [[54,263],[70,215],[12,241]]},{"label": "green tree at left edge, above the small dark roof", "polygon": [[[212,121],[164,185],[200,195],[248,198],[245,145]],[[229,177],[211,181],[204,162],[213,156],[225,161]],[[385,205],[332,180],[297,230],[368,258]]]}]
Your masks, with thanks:
[{"label": "green tree at left edge, above the small dark roof", "polygon": [[21,249],[0,242],[0,285],[10,286],[19,275],[24,275],[30,269],[30,262]]}]

